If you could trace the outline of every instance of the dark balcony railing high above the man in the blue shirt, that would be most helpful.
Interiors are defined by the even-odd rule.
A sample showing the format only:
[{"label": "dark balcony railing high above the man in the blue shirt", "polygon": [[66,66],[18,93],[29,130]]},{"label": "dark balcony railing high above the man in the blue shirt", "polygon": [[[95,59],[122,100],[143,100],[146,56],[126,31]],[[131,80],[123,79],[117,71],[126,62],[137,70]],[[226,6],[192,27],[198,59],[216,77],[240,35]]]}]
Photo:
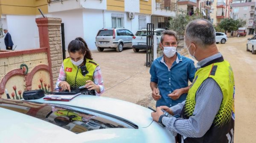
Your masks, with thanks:
[{"label": "dark balcony railing high above the man in the blue shirt", "polygon": [[176,11],[176,3],[171,0],[156,0],[156,9]]}]

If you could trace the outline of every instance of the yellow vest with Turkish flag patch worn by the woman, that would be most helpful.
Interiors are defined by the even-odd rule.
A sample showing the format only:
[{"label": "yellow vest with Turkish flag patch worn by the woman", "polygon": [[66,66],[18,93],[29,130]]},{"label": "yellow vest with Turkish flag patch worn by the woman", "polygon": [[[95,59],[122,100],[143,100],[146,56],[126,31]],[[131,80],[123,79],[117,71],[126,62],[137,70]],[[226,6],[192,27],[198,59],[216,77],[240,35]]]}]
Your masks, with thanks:
[{"label": "yellow vest with Turkish flag patch worn by the woman", "polygon": [[71,62],[70,58],[67,58],[63,61],[64,64],[64,71],[67,75],[66,82],[70,85],[71,88],[78,88],[86,84],[87,80],[93,81],[93,73],[95,68],[98,66],[95,61],[86,59],[86,68],[88,73],[83,76],[81,69],[78,69],[78,66],[74,65]]}]

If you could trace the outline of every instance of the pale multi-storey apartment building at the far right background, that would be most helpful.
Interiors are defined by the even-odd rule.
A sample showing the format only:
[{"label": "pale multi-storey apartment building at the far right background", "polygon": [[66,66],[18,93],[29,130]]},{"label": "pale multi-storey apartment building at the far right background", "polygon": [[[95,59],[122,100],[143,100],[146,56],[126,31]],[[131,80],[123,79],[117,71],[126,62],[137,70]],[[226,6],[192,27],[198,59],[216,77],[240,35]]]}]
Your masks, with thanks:
[{"label": "pale multi-storey apartment building at the far right background", "polygon": [[244,27],[247,28],[247,34],[253,34],[255,32],[255,5],[255,0],[234,0],[232,3],[233,13],[231,16],[234,20],[242,19],[246,21]]}]

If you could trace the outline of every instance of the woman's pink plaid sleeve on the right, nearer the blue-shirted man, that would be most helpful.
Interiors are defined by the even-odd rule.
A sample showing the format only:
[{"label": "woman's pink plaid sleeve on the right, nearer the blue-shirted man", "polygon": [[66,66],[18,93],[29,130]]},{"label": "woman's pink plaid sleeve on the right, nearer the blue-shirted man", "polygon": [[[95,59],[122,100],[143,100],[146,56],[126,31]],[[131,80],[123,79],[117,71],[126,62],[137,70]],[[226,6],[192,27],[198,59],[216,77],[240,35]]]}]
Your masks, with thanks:
[{"label": "woman's pink plaid sleeve on the right, nearer the blue-shirted man", "polygon": [[101,75],[100,66],[97,66],[96,69],[94,70],[93,82],[96,85],[99,85],[100,93],[98,93],[98,92],[95,92],[95,93],[96,93],[96,96],[100,96],[102,93],[105,92],[105,87],[104,87],[104,84],[103,84],[103,78],[102,78],[102,75]]}]

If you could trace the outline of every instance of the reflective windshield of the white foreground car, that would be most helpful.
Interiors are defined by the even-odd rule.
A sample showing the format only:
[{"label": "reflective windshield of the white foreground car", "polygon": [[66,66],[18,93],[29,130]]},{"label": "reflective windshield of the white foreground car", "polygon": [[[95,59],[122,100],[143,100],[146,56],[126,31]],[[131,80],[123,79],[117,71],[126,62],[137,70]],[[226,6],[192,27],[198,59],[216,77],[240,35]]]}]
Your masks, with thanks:
[{"label": "reflective windshield of the white foreground car", "polygon": [[115,118],[113,115],[67,105],[0,99],[0,108],[45,120],[77,134],[96,129],[137,128],[127,120]]}]

